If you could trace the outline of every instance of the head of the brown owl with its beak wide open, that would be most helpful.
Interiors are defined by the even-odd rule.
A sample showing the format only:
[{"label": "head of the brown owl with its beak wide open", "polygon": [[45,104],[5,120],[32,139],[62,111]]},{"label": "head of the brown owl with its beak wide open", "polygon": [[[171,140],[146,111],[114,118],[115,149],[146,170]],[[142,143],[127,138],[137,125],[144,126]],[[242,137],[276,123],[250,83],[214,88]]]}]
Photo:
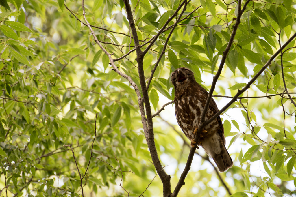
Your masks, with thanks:
[{"label": "head of the brown owl with its beak wide open", "polygon": [[187,68],[178,68],[172,72],[171,82],[175,88],[175,91],[184,89],[192,82],[195,82],[194,74],[190,69]]}]

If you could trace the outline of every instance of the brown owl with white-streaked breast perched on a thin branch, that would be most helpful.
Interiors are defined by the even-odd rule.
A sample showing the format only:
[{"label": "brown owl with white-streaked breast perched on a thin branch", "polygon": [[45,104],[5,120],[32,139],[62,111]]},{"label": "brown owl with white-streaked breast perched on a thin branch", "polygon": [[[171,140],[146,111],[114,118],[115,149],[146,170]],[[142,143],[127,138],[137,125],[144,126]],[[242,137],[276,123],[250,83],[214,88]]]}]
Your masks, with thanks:
[{"label": "brown owl with white-streaked breast perched on a thin branch", "polygon": [[[171,82],[175,89],[174,103],[178,125],[191,140],[192,147],[202,146],[207,155],[214,159],[219,171],[226,171],[233,162],[225,147],[224,128],[220,116],[205,126],[198,142],[194,141],[209,93],[195,81],[194,73],[188,68],[178,68],[172,72]],[[205,121],[218,111],[217,104],[211,98]]]}]

